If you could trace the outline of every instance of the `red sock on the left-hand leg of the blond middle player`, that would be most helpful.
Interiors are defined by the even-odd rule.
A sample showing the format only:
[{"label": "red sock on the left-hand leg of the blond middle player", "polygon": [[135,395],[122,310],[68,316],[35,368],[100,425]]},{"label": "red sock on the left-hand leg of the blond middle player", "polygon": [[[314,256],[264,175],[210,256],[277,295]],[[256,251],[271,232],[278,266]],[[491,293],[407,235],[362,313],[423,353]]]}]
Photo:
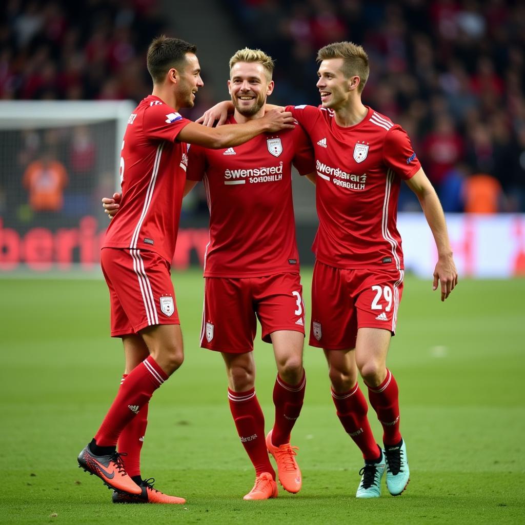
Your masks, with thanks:
[{"label": "red sock on the left-hand leg of the blond middle player", "polygon": [[234,392],[228,388],[228,400],[237,433],[255,467],[255,474],[269,472],[275,479],[266,449],[264,415],[255,395],[255,388],[247,392]]}]

